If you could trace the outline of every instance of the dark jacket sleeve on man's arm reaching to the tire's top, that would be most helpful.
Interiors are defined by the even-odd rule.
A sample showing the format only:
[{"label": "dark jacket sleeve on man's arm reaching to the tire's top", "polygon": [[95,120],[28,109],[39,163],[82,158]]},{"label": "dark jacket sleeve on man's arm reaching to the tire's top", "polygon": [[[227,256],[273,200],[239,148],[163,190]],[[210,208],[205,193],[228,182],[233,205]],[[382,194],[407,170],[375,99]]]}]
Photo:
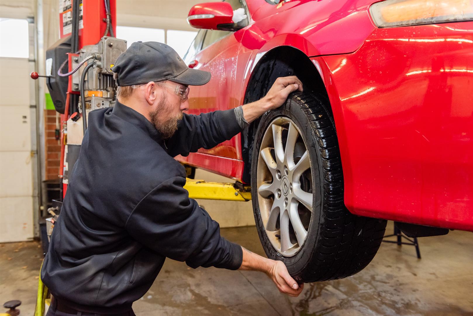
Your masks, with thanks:
[{"label": "dark jacket sleeve on man's arm reaching to the tire's top", "polygon": [[172,157],[187,156],[200,148],[210,149],[240,133],[235,110],[213,111],[200,115],[185,114],[177,131],[166,140],[166,147]]}]

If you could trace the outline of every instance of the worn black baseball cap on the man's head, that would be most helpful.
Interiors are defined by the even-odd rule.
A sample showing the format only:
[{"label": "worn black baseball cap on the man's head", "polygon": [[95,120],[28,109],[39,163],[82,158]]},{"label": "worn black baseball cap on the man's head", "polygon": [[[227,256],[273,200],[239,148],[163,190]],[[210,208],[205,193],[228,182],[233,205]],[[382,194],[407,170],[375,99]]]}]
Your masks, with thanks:
[{"label": "worn black baseball cap on the man's head", "polygon": [[112,71],[119,86],[162,80],[201,86],[210,81],[210,72],[187,67],[174,49],[158,42],[134,42],[118,56]]}]

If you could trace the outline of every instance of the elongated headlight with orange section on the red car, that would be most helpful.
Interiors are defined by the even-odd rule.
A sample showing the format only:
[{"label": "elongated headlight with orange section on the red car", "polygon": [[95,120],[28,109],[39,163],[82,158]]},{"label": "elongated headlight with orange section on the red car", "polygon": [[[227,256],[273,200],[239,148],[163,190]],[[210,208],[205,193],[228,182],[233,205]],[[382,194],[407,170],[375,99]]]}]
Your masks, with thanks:
[{"label": "elongated headlight with orange section on the red car", "polygon": [[473,21],[473,0],[385,0],[369,13],[377,27]]}]

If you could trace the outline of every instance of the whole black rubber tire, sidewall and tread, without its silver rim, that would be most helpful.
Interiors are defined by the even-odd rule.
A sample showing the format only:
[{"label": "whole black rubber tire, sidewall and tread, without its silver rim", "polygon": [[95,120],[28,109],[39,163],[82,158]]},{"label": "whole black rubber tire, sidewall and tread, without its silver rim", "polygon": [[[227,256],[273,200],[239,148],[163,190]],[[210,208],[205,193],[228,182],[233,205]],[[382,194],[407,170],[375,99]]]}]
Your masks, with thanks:
[{"label": "whole black rubber tire, sidewall and tread, without its silver rim", "polygon": [[[307,237],[291,256],[282,255],[273,246],[263,226],[258,202],[258,160],[262,159],[263,135],[278,117],[289,117],[297,125],[311,164],[313,204]],[[342,163],[326,98],[297,92],[282,107],[266,113],[254,138],[251,168],[254,218],[264,251],[268,258],[284,262],[296,280],[341,279],[361,271],[371,262],[383,239],[386,221],[355,216],[344,205]]]}]

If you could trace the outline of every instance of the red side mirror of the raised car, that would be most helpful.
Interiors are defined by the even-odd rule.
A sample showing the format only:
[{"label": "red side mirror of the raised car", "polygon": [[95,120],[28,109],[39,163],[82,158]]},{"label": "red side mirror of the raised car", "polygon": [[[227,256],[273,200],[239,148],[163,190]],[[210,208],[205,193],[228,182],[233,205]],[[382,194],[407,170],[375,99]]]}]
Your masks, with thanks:
[{"label": "red side mirror of the raised car", "polygon": [[233,9],[228,2],[205,2],[196,4],[189,11],[187,23],[195,28],[210,30],[237,30],[233,22]]}]

